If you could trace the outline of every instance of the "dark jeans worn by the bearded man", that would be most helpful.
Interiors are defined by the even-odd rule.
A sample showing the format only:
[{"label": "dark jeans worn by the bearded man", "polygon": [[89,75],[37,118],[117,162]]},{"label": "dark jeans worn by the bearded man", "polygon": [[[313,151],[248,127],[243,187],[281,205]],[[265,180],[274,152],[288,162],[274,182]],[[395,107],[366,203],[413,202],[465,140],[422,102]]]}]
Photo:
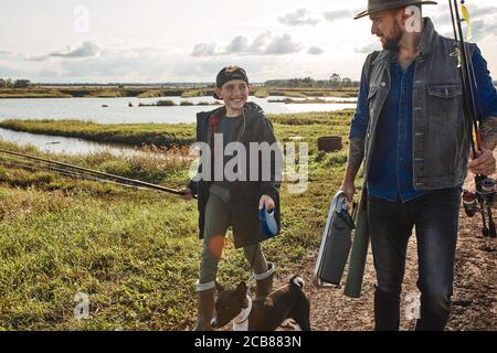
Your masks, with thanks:
[{"label": "dark jeans worn by the bearded man", "polygon": [[416,330],[443,330],[451,311],[461,190],[433,191],[402,203],[368,197],[368,221],[377,271],[376,330],[399,330],[400,295],[408,242],[417,238],[421,319]]}]

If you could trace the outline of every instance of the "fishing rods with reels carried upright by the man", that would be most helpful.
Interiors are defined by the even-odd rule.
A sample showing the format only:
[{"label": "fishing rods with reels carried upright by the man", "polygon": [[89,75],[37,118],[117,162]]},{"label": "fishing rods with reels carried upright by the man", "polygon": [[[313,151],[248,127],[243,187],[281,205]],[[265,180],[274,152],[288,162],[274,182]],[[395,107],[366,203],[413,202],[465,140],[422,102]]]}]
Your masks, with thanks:
[{"label": "fishing rods with reels carried upright by the man", "polygon": [[[452,25],[454,30],[454,56],[457,56],[457,67],[459,68],[461,79],[463,84],[463,109],[467,118],[467,131],[469,133],[470,149],[473,158],[476,159],[483,151],[482,133],[479,129],[480,117],[476,109],[476,99],[474,88],[477,87],[475,73],[469,63],[469,53],[465,39],[463,35],[462,23],[466,22],[468,32],[467,40],[472,38],[472,24],[469,19],[469,11],[466,8],[465,0],[461,0],[461,13],[457,7],[457,0],[448,0],[451,8]],[[476,143],[475,143],[476,140]],[[476,192],[468,190],[463,191],[463,205],[467,216],[474,217],[476,213],[482,214],[482,235],[486,237],[497,237],[496,226],[491,214],[491,205],[494,204],[497,194],[496,181],[486,175],[475,175]],[[488,220],[488,223],[487,223]],[[488,224],[488,226],[487,226]]]}]

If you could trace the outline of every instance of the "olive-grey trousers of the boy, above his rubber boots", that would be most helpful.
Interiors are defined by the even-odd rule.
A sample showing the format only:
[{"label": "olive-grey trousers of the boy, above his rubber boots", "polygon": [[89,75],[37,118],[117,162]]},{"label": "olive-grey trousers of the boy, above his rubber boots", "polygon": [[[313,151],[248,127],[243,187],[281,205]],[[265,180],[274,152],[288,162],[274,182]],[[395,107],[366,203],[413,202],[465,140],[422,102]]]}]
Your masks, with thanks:
[{"label": "olive-grey trousers of the boy, above his rubber boots", "polygon": [[[216,279],[218,264],[221,259],[224,237],[230,226],[231,212],[230,190],[212,184],[209,189],[209,201],[205,207],[200,284],[209,284]],[[255,274],[264,274],[268,270],[260,244],[245,246],[243,250]]]}]

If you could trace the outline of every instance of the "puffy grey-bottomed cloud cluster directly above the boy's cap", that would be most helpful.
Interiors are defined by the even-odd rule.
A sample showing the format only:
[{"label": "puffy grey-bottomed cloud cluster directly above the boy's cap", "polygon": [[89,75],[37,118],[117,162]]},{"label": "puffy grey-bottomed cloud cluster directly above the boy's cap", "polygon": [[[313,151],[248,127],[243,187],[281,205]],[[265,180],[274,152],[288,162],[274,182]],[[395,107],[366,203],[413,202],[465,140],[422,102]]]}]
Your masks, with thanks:
[{"label": "puffy grey-bottomed cloud cluster directly above the boy's cap", "polygon": [[237,35],[222,47],[215,43],[195,44],[192,56],[221,56],[221,55],[285,55],[297,53],[302,50],[300,43],[294,42],[289,34],[273,36],[271,32],[261,33],[251,43],[244,35]]}]

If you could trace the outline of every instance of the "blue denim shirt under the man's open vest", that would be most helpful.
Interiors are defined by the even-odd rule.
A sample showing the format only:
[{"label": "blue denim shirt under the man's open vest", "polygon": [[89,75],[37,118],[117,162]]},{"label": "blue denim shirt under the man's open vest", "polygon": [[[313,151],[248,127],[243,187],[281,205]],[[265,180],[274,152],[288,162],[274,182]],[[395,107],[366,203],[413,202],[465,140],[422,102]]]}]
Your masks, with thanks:
[{"label": "blue denim shirt under the man's open vest", "polygon": [[[497,92],[491,82],[487,62],[479,49],[473,54],[476,78],[476,108],[478,116],[497,117]],[[425,191],[414,190],[412,167],[412,92],[415,62],[405,71],[396,62],[390,63],[391,89],[378,120],[377,141],[371,153],[368,192],[380,199],[408,202]],[[362,72],[361,87],[353,115],[350,138],[364,138],[368,121],[369,83]]]}]

